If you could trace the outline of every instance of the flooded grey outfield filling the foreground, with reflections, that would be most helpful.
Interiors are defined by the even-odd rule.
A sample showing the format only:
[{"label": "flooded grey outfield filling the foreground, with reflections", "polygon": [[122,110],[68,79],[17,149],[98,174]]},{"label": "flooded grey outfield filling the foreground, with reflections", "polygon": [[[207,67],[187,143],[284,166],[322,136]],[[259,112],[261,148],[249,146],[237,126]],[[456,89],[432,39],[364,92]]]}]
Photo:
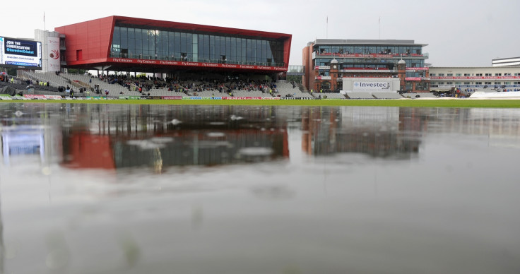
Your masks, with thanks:
[{"label": "flooded grey outfield filling the foreground, with reflections", "polygon": [[0,118],[0,273],[520,273],[520,109]]}]

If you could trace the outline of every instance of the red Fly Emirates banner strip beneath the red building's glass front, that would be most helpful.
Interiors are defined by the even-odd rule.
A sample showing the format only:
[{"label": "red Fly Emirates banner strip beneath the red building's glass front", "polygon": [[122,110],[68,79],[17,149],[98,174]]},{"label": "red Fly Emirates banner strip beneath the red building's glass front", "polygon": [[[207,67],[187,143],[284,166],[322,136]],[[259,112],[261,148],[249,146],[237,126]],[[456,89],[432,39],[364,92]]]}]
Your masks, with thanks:
[{"label": "red Fly Emirates banner strip beneath the red building's glass front", "polygon": [[201,68],[237,68],[237,69],[259,69],[266,71],[287,71],[287,68],[280,66],[252,66],[240,64],[215,64],[199,63],[188,61],[167,61],[167,60],[148,60],[148,59],[127,59],[127,58],[108,58],[107,61],[126,64],[146,64],[157,66],[196,66]]}]

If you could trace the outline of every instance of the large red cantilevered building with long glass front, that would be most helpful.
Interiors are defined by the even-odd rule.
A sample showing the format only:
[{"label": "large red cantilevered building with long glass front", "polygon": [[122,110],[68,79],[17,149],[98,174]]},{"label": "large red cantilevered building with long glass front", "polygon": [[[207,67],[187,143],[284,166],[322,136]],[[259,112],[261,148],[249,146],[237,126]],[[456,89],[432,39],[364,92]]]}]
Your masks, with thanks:
[{"label": "large red cantilevered building with long glass front", "polygon": [[288,69],[292,35],[110,16],[55,28],[66,36],[66,68],[101,71]]}]

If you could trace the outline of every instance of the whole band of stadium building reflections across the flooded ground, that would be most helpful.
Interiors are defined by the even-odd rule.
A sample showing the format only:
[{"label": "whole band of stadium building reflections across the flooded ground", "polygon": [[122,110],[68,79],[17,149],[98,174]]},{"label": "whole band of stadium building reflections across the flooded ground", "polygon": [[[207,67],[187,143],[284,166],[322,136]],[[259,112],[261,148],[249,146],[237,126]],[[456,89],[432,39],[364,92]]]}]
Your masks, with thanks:
[{"label": "whole band of stadium building reflections across the flooded ground", "polygon": [[[517,138],[516,109],[398,107],[1,106],[4,162],[58,157],[69,168],[162,169],[289,157],[288,124],[300,124],[308,155],[362,153],[410,159],[423,134]],[[47,141],[45,141],[47,140]],[[57,148],[57,146],[60,146]],[[47,149],[46,149],[47,147]],[[49,155],[52,154],[52,155]]]}]

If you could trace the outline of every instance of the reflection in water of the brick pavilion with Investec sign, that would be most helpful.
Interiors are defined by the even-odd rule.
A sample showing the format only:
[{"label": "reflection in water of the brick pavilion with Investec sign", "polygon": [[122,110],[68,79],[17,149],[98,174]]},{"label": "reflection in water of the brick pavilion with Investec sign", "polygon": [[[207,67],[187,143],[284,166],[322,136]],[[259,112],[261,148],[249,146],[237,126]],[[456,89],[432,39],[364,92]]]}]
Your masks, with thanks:
[{"label": "reflection in water of the brick pavilion with Investec sign", "polygon": [[309,108],[303,117],[302,149],[309,155],[362,153],[408,159],[418,153],[421,139],[420,131],[409,124],[424,124],[398,107]]}]

